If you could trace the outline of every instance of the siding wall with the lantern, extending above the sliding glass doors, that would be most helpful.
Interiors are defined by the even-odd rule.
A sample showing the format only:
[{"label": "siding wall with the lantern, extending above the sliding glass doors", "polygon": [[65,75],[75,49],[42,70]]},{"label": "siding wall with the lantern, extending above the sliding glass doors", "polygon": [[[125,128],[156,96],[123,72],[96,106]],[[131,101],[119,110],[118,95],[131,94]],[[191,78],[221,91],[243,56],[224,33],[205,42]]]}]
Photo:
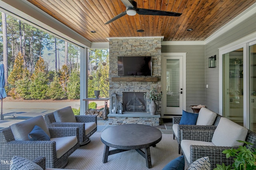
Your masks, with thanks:
[{"label": "siding wall with the lantern, extending above the sliding glass doors", "polygon": [[[230,44],[244,36],[256,32],[256,14],[229,30],[220,37],[212,40],[205,46],[205,81],[208,84],[206,88],[205,104],[208,108],[216,113],[219,112],[219,50],[218,48]],[[252,37],[253,38],[253,37]],[[217,67],[208,68],[208,58],[217,56]]]}]

